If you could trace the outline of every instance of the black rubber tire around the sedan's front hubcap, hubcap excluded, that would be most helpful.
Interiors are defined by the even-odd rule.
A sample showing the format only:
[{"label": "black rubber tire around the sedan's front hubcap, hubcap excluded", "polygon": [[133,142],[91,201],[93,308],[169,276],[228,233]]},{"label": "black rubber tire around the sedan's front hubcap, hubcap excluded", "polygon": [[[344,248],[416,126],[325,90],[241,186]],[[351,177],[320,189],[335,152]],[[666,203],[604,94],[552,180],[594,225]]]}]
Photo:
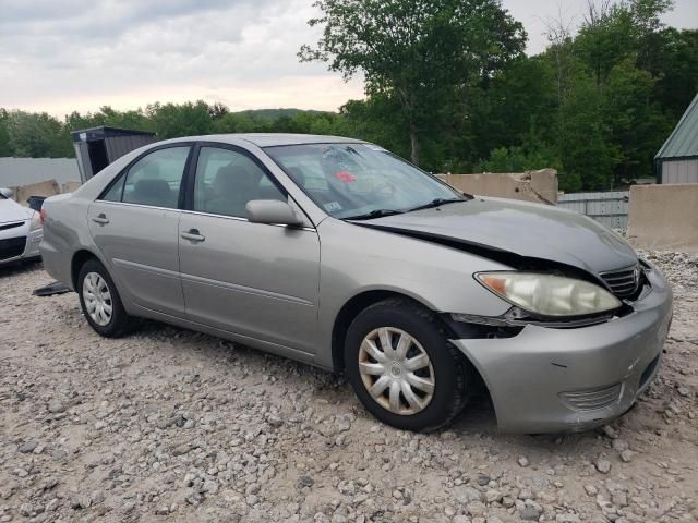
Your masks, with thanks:
[{"label": "black rubber tire around the sedan's front hubcap, hubcap excluded", "polygon": [[[394,413],[378,403],[364,385],[359,370],[361,343],[366,336],[382,327],[407,332],[429,356],[431,368],[428,373],[433,379],[434,389],[431,400],[419,412]],[[399,337],[399,333],[392,338],[393,344],[396,343],[395,337]],[[404,430],[432,431],[448,425],[466,405],[471,382],[470,365],[448,342],[447,333],[436,316],[416,302],[388,299],[365,308],[349,326],[344,354],[345,370],[359,400],[371,414],[387,425]],[[400,405],[407,405],[405,398],[400,396]]]}]

